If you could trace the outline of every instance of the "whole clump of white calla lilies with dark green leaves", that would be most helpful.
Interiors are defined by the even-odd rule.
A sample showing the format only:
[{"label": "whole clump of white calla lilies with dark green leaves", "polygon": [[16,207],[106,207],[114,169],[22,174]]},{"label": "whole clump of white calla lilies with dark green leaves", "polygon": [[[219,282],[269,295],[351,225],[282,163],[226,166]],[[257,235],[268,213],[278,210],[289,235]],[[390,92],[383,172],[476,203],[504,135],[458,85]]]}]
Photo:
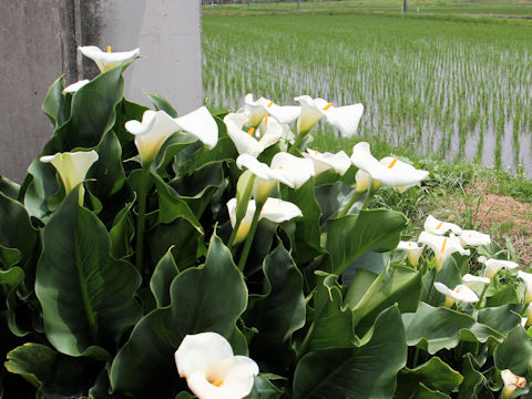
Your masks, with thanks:
[{"label": "whole clump of white calla lilies with dark green leaves", "polygon": [[[178,113],[124,98],[139,49],[79,51],[101,73],[52,84],[49,142],[0,184],[0,398],[529,393],[532,273],[376,208],[431,174],[371,153],[362,104]],[[323,124],[352,147],[313,144]]]}]

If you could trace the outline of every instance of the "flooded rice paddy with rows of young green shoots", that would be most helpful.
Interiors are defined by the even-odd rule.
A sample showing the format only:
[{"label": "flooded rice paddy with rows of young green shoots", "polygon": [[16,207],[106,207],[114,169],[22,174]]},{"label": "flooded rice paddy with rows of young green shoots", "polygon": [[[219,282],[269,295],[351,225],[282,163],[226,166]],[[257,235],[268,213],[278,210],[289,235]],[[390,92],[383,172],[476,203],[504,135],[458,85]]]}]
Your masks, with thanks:
[{"label": "flooded rice paddy with rows of young green shoots", "polygon": [[[410,1],[408,17],[401,4],[204,10],[205,100],[233,110],[246,93],[361,102],[356,140],[532,176],[532,21],[471,17],[532,16],[532,2]],[[334,147],[336,132],[320,127]]]}]

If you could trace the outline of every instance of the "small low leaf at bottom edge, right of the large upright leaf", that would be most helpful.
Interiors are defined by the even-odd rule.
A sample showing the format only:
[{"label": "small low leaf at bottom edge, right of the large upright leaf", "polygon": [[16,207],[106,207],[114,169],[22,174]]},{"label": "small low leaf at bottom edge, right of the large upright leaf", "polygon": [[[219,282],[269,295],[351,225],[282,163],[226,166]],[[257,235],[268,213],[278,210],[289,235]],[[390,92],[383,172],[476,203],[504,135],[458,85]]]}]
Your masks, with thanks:
[{"label": "small low leaf at bottom edge, right of the large upright leaf", "polygon": [[462,380],[463,377],[460,372],[434,356],[413,369],[403,368],[398,375],[397,389],[398,392],[412,392],[422,382],[430,389],[450,393]]}]

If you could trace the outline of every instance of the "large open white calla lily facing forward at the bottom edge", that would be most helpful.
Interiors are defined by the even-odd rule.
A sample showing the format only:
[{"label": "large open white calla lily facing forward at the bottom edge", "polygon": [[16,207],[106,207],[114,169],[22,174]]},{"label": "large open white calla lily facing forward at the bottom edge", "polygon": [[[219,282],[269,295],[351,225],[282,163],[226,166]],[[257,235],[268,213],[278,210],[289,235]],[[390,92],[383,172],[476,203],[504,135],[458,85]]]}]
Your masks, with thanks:
[{"label": "large open white calla lily facing forward at the bottom edge", "polygon": [[175,352],[175,364],[200,399],[242,399],[258,374],[253,359],[234,356],[229,342],[216,332],[187,335]]}]

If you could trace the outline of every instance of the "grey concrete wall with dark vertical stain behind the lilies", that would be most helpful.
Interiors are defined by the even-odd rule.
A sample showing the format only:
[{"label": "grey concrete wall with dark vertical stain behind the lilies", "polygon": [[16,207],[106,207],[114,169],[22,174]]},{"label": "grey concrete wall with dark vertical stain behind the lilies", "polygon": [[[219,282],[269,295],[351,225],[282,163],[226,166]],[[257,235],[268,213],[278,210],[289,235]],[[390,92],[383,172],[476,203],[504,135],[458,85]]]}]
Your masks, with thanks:
[{"label": "grey concrete wall with dark vertical stain behind the lilies", "polygon": [[49,85],[98,69],[76,45],[141,48],[125,95],[150,104],[158,92],[180,114],[202,105],[201,6],[197,0],[18,0],[0,3],[0,174],[20,181],[52,133],[40,111]]}]

